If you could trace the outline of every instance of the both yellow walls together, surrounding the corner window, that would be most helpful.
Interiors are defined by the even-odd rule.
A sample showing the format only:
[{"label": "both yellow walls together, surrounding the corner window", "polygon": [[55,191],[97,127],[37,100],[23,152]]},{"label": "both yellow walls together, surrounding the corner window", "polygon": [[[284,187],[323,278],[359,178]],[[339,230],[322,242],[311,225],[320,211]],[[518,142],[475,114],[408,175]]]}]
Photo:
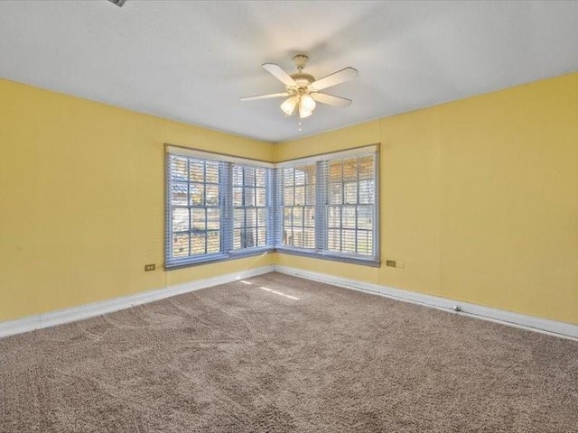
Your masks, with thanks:
[{"label": "both yellow walls together, surrounding the corner window", "polygon": [[[382,260],[405,268],[164,272],[163,143],[266,161],[381,143]],[[275,145],[0,79],[0,322],[272,263],[578,323],[578,73]]]}]

